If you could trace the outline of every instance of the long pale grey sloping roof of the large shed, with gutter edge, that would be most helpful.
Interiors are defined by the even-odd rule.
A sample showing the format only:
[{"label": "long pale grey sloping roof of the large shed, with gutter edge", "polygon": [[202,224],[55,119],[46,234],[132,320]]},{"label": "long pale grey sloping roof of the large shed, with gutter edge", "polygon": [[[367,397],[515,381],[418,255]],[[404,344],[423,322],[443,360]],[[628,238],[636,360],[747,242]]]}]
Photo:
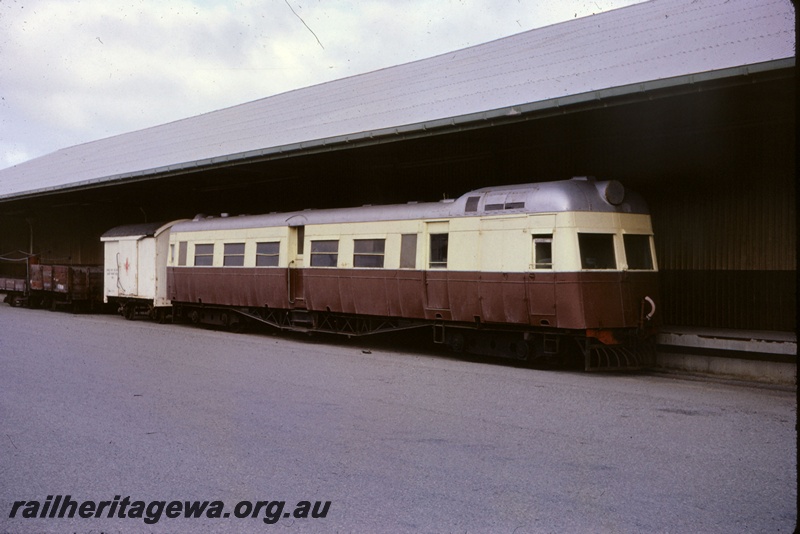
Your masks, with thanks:
[{"label": "long pale grey sloping roof of the large shed, with gutter edge", "polygon": [[788,0],[653,0],[64,148],[0,170],[0,199],[788,68],[794,42]]}]

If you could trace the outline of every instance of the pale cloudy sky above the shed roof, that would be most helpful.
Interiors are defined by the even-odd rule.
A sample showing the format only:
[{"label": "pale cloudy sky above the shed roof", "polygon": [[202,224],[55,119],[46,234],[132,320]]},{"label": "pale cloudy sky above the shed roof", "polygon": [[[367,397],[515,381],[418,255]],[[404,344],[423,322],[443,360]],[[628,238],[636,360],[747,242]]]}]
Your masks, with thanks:
[{"label": "pale cloudy sky above the shed roof", "polygon": [[0,169],[642,0],[0,0]]}]

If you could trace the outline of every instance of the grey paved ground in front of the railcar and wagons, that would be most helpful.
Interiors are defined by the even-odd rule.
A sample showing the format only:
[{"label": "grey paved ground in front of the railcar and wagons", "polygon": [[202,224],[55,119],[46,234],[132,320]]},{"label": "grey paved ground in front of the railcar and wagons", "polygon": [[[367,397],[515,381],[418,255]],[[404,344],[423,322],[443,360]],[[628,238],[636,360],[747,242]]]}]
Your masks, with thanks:
[{"label": "grey paved ground in front of the railcar and wagons", "polygon": [[[7,305],[0,325],[0,532],[795,528],[794,389],[464,361],[413,334],[236,335]],[[50,495],[117,510],[24,517]],[[146,523],[119,517],[125,497],[229,515]],[[243,501],[286,504],[268,524],[277,505],[236,518]],[[294,517],[301,501],[330,506]]]}]

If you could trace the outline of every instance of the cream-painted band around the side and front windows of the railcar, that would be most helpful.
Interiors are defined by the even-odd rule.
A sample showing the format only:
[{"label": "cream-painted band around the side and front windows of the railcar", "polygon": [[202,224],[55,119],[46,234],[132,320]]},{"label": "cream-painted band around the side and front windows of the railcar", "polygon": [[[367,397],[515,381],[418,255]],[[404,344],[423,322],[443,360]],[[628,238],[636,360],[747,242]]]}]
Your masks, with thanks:
[{"label": "cream-painted band around the side and front windows of the railcar", "polygon": [[[226,245],[243,245],[242,266],[257,265],[259,245],[275,243],[278,261],[275,267],[313,266],[310,256],[318,243],[326,243],[326,250],[335,247],[335,265],[351,268],[357,255],[357,242],[381,243],[382,267],[400,269],[403,236],[416,236],[414,266],[406,268],[428,269],[432,265],[428,245],[431,235],[447,236],[447,255],[444,268],[451,271],[527,272],[537,269],[534,255],[535,243],[551,243],[551,258],[546,262],[548,271],[587,270],[582,265],[580,235],[602,234],[611,236],[614,269],[627,270],[625,235],[642,235],[652,240],[649,217],[638,214],[560,213],[541,215],[501,215],[495,217],[459,218],[451,221],[375,221],[360,223],[316,224],[304,226],[303,253],[299,255],[296,243],[290,243],[292,229],[265,227],[233,230],[204,230],[197,232],[174,231],[170,236],[169,265],[180,266],[181,246],[186,247],[184,265],[194,265],[197,245],[213,245],[213,266],[225,265]],[[182,244],[184,243],[184,244]],[[652,254],[652,244],[649,245]],[[330,253],[330,251],[328,251]],[[298,263],[300,260],[300,263]],[[605,267],[607,270],[609,267]],[[652,269],[655,270],[655,265]]]}]

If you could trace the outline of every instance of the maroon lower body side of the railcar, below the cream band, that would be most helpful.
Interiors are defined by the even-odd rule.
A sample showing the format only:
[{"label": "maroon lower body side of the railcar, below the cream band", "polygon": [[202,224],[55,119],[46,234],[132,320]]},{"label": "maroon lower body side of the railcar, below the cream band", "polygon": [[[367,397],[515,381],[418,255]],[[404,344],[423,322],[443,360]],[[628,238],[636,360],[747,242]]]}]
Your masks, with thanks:
[{"label": "maroon lower body side of the railcar, below the cream band", "polygon": [[[640,325],[657,273],[170,267],[173,302],[564,329]],[[650,311],[650,308],[645,310]]]}]

